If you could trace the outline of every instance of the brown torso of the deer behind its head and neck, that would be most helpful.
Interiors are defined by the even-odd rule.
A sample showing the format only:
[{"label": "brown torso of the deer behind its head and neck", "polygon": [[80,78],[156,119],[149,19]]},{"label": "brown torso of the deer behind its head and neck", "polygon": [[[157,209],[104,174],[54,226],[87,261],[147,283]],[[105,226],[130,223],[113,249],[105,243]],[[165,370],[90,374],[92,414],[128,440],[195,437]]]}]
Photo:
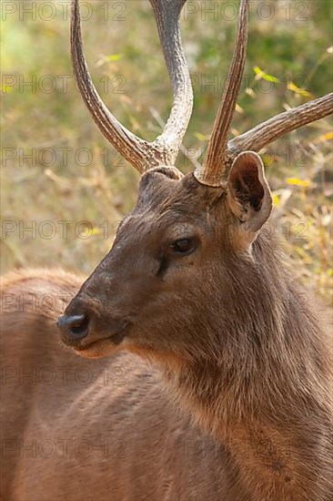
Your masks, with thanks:
[{"label": "brown torso of the deer behind its head and neck", "polygon": [[[226,452],[170,403],[156,368],[130,353],[77,357],[59,343],[62,299],[55,308],[29,304],[46,292],[73,297],[81,282],[45,270],[3,280],[2,499],[214,501],[232,493]],[[43,383],[45,368],[55,371],[52,384]],[[76,377],[83,369],[93,374],[86,384]],[[86,457],[85,441],[93,447]]]}]

